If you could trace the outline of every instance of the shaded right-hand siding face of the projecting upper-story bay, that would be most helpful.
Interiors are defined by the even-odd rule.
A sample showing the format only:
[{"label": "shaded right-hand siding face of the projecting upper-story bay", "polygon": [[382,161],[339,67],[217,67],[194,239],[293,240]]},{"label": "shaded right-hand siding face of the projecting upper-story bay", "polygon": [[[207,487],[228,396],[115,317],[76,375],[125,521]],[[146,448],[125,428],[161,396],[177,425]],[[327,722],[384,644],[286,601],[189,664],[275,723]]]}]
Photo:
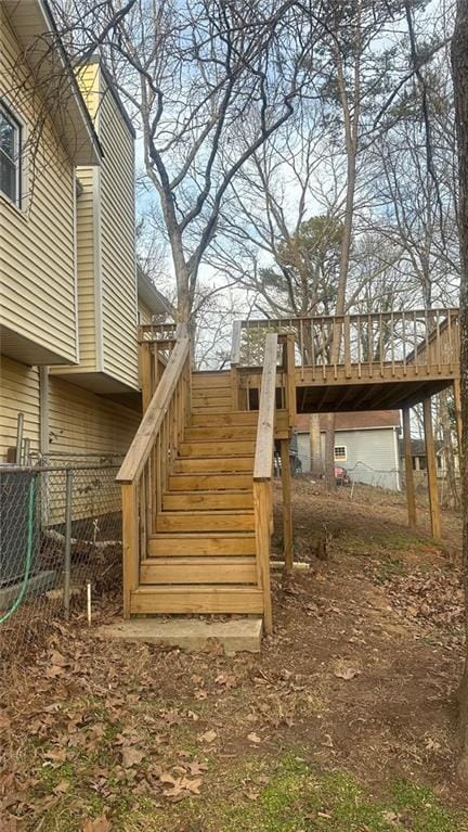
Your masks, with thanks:
[{"label": "shaded right-hand siding face of the projecting upper-story bay", "polygon": [[138,387],[133,137],[114,97],[99,111],[104,149],[100,171],[104,371]]}]

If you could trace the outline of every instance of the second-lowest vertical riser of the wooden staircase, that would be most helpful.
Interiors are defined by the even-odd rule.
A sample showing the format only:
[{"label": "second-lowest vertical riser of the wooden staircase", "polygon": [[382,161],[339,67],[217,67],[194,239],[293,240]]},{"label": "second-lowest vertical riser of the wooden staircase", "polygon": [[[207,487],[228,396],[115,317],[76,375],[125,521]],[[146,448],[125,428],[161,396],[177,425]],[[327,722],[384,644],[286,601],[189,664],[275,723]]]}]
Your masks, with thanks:
[{"label": "second-lowest vertical riser of the wooden staircase", "polygon": [[181,564],[169,565],[143,563],[140,569],[141,584],[257,584],[255,559],[251,563],[234,564],[229,560],[220,566]]}]

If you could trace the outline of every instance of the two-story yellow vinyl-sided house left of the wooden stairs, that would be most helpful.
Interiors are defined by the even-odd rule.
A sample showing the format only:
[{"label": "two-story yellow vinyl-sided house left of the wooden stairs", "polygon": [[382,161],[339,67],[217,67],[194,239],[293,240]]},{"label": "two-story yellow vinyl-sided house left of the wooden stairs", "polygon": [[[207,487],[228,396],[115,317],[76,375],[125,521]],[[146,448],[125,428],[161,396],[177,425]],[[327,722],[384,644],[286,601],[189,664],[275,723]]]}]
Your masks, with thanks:
[{"label": "two-story yellow vinyl-sided house left of the wooden stairs", "polygon": [[77,82],[44,55],[52,30],[42,0],[0,3],[0,462],[18,412],[34,452],[125,453],[136,325],[167,315],[136,278],[132,125],[99,63]]}]

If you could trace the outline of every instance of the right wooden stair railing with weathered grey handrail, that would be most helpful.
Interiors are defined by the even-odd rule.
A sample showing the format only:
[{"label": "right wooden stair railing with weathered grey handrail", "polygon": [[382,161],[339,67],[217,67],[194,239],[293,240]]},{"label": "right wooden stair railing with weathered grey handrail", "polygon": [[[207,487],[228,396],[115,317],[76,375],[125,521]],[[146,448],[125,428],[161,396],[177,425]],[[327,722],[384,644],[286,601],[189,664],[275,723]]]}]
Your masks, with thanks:
[{"label": "right wooden stair railing with weathered grey handrail", "polygon": [[266,632],[271,632],[273,627],[270,551],[273,520],[272,479],[277,343],[278,336],[276,333],[266,335],[253,461],[253,514],[257,574],[259,586],[263,591],[263,620]]}]

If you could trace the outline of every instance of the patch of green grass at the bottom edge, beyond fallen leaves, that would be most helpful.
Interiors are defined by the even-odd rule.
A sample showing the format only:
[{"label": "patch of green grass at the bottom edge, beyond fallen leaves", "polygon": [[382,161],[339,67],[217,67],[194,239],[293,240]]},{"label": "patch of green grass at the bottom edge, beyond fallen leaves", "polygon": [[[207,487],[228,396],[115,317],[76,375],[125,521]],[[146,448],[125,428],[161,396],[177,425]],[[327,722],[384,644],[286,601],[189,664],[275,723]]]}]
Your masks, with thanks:
[{"label": "patch of green grass at the bottom edge, beyond fallen leaves", "polygon": [[143,801],[116,823],[120,832],[465,832],[468,815],[441,805],[430,789],[394,783],[385,798],[350,775],[316,775],[299,757],[273,768],[253,758],[220,771],[209,796],[169,806]]}]

